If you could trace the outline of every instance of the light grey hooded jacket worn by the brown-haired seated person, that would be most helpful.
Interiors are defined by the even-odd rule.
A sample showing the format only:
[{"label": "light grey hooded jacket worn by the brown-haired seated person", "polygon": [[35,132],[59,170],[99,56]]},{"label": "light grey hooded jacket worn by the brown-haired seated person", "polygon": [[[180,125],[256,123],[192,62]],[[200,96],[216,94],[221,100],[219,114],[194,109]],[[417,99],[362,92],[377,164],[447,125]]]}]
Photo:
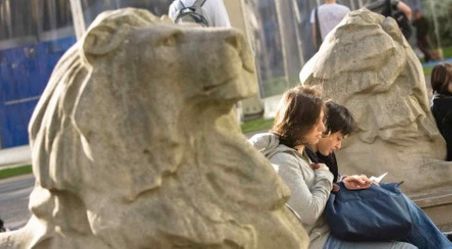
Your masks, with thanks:
[{"label": "light grey hooded jacket worn by the brown-haired seated person", "polygon": [[333,185],[333,174],[326,165],[313,170],[306,155],[280,144],[278,136],[272,133],[254,135],[249,142],[270,160],[289,187],[288,204],[298,213],[309,234],[309,248],[323,248],[329,231],[323,210]]}]

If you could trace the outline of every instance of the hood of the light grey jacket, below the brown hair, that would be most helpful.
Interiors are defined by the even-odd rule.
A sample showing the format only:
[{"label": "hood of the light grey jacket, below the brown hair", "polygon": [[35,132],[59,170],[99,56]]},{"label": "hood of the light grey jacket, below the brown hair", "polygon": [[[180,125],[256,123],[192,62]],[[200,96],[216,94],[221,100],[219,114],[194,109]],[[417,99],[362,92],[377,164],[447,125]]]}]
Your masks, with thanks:
[{"label": "hood of the light grey jacket, below the brown hair", "polygon": [[253,147],[261,152],[266,158],[271,158],[278,152],[296,152],[295,149],[280,144],[278,135],[270,132],[256,134],[248,139],[248,142],[250,142],[251,145],[253,145]]}]

